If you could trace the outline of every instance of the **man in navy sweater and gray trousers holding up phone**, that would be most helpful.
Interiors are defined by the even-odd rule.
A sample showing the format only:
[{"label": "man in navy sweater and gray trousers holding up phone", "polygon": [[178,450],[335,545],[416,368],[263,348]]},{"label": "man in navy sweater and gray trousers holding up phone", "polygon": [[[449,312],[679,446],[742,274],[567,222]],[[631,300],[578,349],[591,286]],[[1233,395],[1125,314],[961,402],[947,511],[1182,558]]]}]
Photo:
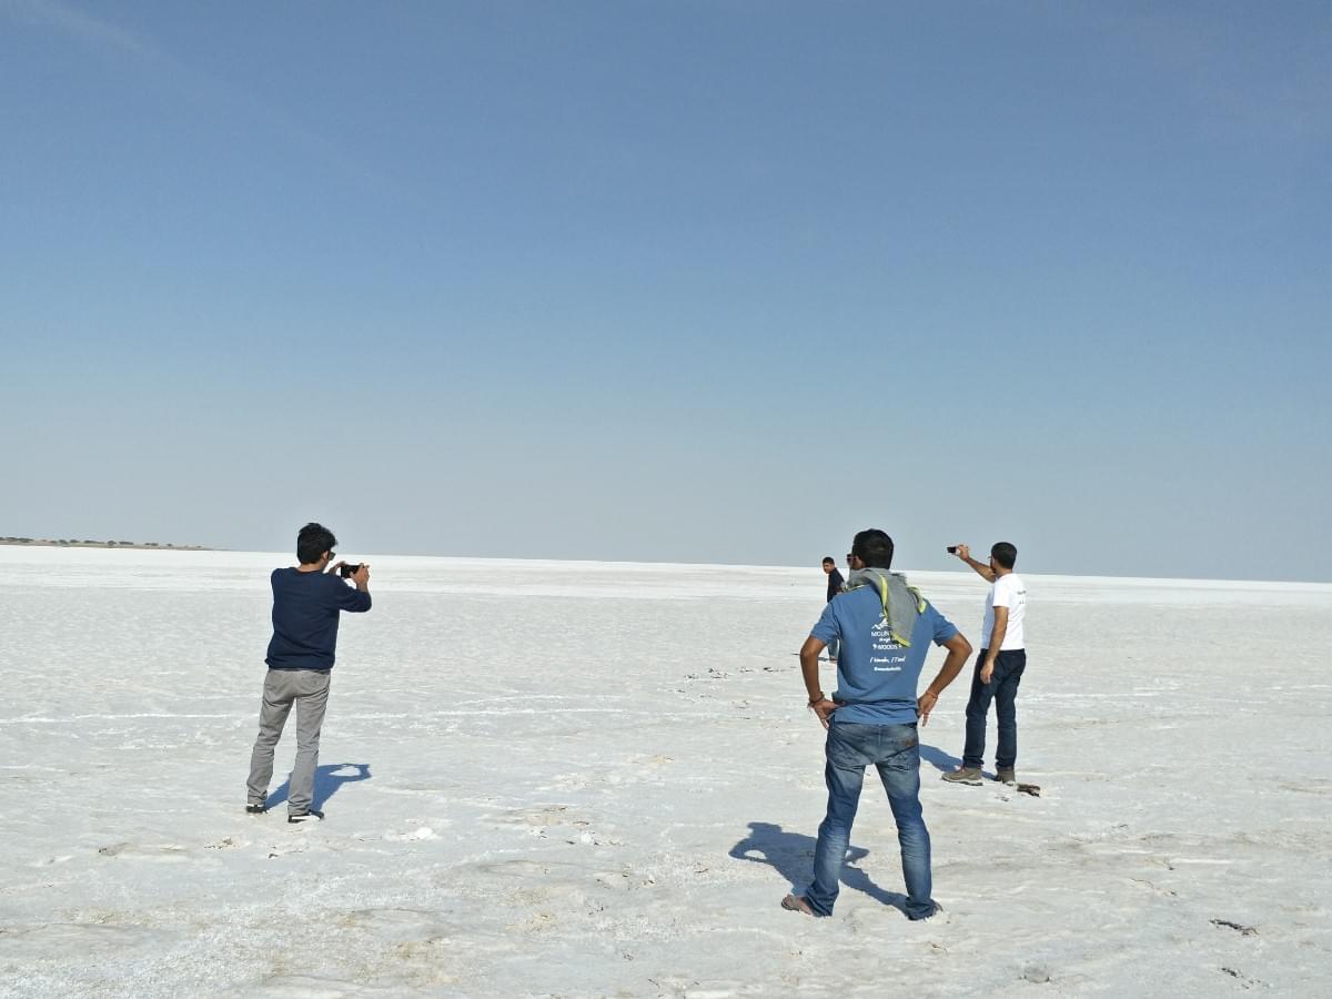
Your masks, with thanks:
[{"label": "man in navy sweater and gray trousers holding up phone", "polygon": [[[342,582],[345,562],[329,567],[337,554],[333,531],[306,523],[296,535],[298,566],[273,570],[273,638],[268,643],[268,675],[258,715],[258,738],[250,754],[245,811],[268,810],[273,779],[273,750],[296,706],[296,766],[292,767],[286,821],[322,819],[314,811],[314,770],[320,762],[320,729],[329,699],[329,679],[337,649],[338,615],[370,609],[370,566],[354,566],[352,586]],[[328,570],[328,571],[325,571]]]}]

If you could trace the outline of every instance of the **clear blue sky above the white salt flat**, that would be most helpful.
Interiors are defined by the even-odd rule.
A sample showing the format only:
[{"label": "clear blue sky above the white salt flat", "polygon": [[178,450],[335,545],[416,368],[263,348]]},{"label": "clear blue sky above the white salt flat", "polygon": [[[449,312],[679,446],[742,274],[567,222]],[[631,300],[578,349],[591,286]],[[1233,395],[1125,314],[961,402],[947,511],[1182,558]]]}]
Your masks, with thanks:
[{"label": "clear blue sky above the white salt flat", "polygon": [[0,534],[1328,581],[1329,111],[1321,0],[0,0]]}]

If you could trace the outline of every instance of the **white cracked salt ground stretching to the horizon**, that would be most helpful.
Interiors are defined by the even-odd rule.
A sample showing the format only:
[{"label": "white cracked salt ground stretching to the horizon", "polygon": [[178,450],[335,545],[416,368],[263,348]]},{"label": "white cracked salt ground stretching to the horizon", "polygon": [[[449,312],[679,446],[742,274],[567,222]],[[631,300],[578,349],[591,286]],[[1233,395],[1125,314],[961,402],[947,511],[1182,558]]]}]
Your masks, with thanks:
[{"label": "white cracked salt ground stretching to the horizon", "polygon": [[[793,655],[818,578],[377,558],[328,818],[289,827],[241,814],[284,561],[0,549],[0,995],[1320,995],[1332,968],[1332,783],[1304,774],[1332,587],[1028,574],[1042,797],[938,781],[951,689],[922,734],[944,915],[894,907],[871,775],[815,922],[778,902],[823,809]],[[972,578],[912,581],[974,631]]]}]

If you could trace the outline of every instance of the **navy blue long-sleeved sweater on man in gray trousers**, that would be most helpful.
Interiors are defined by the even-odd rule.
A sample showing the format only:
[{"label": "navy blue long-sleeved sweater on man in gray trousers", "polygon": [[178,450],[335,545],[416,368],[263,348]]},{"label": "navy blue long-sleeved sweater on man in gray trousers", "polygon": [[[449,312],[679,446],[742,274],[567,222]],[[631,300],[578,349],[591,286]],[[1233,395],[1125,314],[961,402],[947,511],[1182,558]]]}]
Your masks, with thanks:
[{"label": "navy blue long-sleeved sweater on man in gray trousers", "polygon": [[274,670],[333,669],[338,613],[369,609],[370,594],[337,575],[274,569],[273,639],[265,662]]}]

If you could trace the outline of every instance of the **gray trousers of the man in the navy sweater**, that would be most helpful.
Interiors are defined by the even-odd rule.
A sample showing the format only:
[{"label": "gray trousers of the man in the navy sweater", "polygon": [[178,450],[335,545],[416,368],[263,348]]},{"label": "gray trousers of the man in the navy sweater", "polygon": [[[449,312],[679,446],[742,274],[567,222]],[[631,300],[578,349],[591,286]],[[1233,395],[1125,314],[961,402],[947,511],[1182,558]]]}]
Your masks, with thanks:
[{"label": "gray trousers of the man in the navy sweater", "polygon": [[286,715],[296,705],[296,766],[292,767],[286,810],[300,815],[310,810],[314,798],[314,769],[320,762],[320,729],[329,702],[329,670],[269,670],[264,678],[264,703],[258,713],[258,738],[250,754],[250,777],[245,783],[246,801],[268,801],[273,779],[273,750],[282,737]]}]

